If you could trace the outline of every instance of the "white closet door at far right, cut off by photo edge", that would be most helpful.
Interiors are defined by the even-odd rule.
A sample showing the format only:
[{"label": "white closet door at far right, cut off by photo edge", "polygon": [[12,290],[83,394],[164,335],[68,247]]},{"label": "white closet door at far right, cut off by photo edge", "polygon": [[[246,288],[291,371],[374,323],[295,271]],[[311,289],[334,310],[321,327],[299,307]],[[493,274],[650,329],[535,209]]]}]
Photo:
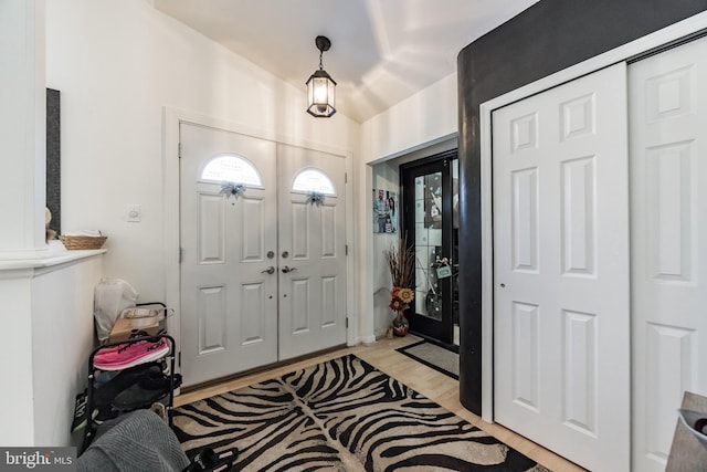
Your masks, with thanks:
[{"label": "white closet door at far right, cut off by photo edge", "polygon": [[663,471],[686,390],[707,395],[707,40],[629,70],[633,463]]}]

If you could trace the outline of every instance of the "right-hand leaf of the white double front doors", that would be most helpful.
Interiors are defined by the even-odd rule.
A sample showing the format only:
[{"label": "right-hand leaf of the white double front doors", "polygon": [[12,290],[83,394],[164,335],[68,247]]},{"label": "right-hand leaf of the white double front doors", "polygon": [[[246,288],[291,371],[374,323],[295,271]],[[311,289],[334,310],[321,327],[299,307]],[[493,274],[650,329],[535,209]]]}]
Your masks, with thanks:
[{"label": "right-hand leaf of the white double front doors", "polygon": [[277,154],[279,358],[289,359],[346,343],[346,166],[295,146]]}]

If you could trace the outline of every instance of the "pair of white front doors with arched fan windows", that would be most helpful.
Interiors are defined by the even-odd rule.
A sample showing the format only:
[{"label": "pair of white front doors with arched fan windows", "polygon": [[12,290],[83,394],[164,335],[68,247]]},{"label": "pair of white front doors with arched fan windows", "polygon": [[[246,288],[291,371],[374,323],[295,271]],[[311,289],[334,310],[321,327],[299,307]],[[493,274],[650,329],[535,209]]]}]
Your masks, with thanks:
[{"label": "pair of white front doors with arched fan windows", "polygon": [[181,373],[346,343],[345,159],[180,125]]}]

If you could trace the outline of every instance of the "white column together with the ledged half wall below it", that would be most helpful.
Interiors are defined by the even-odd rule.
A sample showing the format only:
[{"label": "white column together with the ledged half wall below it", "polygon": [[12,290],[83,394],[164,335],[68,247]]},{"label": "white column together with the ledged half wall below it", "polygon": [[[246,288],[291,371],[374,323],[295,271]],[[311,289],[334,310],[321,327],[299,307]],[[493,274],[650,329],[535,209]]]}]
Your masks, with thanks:
[{"label": "white column together with the ledged half wall below it", "polygon": [[43,0],[0,2],[0,444],[63,445],[85,384],[77,359],[93,345],[101,261],[44,243]]}]

